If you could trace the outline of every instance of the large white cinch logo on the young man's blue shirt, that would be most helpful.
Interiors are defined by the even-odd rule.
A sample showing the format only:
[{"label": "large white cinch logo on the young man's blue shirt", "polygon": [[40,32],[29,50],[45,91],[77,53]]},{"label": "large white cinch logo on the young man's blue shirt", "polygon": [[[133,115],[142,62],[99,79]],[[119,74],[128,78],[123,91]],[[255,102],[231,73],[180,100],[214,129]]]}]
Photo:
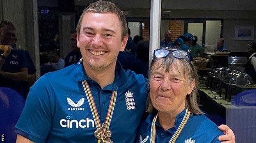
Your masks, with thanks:
[{"label": "large white cinch logo on the young man's blue shirt", "polygon": [[89,118],[86,118],[86,120],[82,119],[80,121],[77,121],[75,119],[70,120],[70,116],[66,116],[66,119],[63,118],[59,121],[59,124],[62,127],[73,128],[73,126],[74,126],[75,128],[79,128],[79,127],[89,128],[90,125],[91,125],[91,127],[94,127],[94,121],[92,119],[89,119]]}]

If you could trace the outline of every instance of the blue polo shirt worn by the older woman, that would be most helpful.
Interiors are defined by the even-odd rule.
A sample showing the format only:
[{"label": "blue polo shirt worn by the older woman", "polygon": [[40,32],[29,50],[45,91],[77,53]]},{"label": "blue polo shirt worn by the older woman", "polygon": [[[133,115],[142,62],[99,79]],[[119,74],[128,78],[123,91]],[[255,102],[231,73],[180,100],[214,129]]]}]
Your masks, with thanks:
[{"label": "blue polo shirt worn by the older woman", "polygon": [[[174,127],[171,127],[169,130],[164,130],[160,123],[156,121],[156,143],[168,143],[171,139],[174,132],[178,129],[178,126],[181,124],[183,117],[185,116],[186,110],[183,110],[178,116],[176,116]],[[151,125],[155,114],[149,114],[145,121],[142,123],[139,132],[137,134],[136,143],[149,143],[150,141],[150,132]],[[194,143],[220,143],[218,137],[223,135],[217,125],[210,121],[204,115],[190,115],[189,120],[187,121],[185,127],[183,128],[181,134],[178,136],[176,143],[192,143],[185,142],[186,140],[194,140]],[[141,137],[140,137],[141,136]],[[148,139],[147,139],[148,138]],[[147,141],[146,141],[147,139]],[[142,140],[142,141],[140,141]]]}]

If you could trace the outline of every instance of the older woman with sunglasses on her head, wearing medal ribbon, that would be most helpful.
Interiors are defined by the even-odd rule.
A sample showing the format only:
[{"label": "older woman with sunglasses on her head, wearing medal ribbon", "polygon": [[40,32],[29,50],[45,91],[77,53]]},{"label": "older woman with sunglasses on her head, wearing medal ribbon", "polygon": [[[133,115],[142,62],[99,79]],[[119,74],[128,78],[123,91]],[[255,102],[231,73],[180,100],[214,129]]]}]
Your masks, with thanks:
[{"label": "older woman with sunglasses on her head, wearing medal ribbon", "polygon": [[137,143],[219,143],[223,134],[199,109],[197,71],[179,49],[157,49],[149,71],[150,113]]}]

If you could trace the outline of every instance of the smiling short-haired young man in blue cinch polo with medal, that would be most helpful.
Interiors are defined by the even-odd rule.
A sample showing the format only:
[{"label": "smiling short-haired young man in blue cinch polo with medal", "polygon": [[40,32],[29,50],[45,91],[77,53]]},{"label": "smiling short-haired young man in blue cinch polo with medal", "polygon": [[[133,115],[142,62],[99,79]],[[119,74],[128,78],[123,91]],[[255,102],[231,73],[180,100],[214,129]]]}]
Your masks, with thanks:
[{"label": "smiling short-haired young man in blue cinch polo with medal", "polygon": [[134,142],[145,112],[147,80],[117,62],[128,39],[126,18],[111,2],[98,1],[84,10],[77,32],[80,63],[33,85],[16,125],[17,143],[96,143],[94,131],[103,123],[113,142]]}]

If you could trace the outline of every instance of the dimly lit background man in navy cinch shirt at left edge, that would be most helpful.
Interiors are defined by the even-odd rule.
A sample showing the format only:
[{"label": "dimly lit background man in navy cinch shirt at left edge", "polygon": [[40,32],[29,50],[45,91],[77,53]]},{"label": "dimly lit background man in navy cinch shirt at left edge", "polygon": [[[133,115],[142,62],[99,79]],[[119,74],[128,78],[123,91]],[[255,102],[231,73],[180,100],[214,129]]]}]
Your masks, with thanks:
[{"label": "dimly lit background man in navy cinch shirt at left edge", "polygon": [[[26,98],[28,93],[28,63],[24,51],[16,47],[15,27],[9,21],[0,23],[1,44],[9,45],[0,50],[0,87],[9,87]],[[6,46],[5,46],[6,47]]]}]

